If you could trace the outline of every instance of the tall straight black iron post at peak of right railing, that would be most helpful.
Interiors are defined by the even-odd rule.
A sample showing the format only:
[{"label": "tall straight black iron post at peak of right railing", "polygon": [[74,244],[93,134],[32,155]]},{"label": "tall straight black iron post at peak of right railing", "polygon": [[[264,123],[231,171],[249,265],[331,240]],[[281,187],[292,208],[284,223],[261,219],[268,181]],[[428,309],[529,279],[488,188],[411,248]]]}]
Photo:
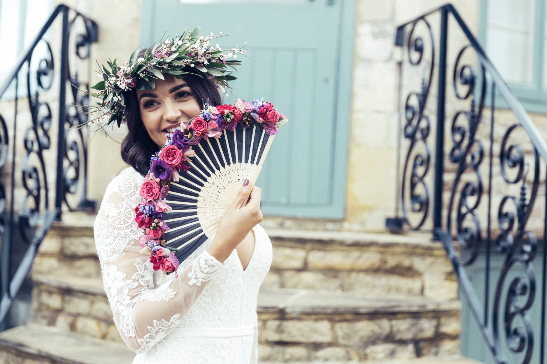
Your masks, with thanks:
[{"label": "tall straight black iron post at peak of right railing", "polygon": [[433,239],[440,240],[443,228],[443,164],[444,164],[444,123],[446,91],[446,42],[448,33],[448,9],[441,8],[439,45],[439,91],[437,98],[437,141],[435,144],[435,187],[433,197]]}]

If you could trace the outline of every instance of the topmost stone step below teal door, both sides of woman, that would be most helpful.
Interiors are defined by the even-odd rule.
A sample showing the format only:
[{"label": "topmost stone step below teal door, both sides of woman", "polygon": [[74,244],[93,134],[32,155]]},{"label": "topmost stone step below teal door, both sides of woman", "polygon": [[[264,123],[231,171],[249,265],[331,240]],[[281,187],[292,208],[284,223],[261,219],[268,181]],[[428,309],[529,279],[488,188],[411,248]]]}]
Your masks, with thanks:
[{"label": "topmost stone step below teal door, both sides of woman", "polygon": [[[63,219],[46,235],[34,260],[33,272],[101,277],[92,217],[67,213]],[[456,277],[445,251],[427,235],[265,230],[272,242],[273,260],[264,288],[433,300],[457,298]]]}]

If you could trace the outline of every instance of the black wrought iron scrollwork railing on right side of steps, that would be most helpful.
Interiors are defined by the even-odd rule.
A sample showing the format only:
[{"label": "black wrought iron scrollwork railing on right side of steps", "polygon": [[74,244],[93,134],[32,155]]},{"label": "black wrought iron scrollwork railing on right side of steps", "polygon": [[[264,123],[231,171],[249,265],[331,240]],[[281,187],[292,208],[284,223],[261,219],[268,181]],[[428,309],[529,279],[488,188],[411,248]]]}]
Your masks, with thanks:
[{"label": "black wrought iron scrollwork railing on right side of steps", "polygon": [[[543,202],[538,195],[542,184],[542,193],[547,190],[547,178],[540,174],[547,144],[452,5],[399,26],[395,38],[403,54],[403,159],[397,216],[386,220],[387,227],[431,228],[497,363],[544,363],[547,209],[538,208]],[[499,103],[502,108],[496,108]],[[532,262],[540,249],[539,285]],[[501,255],[499,271],[493,270],[492,254]],[[484,292],[470,280],[479,261]],[[496,282],[493,295],[491,280]],[[540,314],[537,320],[531,319],[532,307]]]}]

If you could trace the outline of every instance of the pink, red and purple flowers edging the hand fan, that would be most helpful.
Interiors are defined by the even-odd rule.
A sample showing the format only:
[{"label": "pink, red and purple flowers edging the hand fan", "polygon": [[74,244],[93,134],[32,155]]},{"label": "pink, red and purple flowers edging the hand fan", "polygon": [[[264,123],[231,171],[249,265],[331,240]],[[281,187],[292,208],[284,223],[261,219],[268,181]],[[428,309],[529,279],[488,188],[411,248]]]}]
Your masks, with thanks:
[{"label": "pink, red and purple flowers edging the hand fan", "polygon": [[141,252],[150,253],[154,270],[167,275],[174,272],[177,276],[177,249],[166,246],[165,232],[169,226],[163,220],[164,213],[172,208],[164,200],[171,181],[177,182],[181,172],[190,168],[187,162],[195,156],[192,146],[203,138],[220,138],[224,129],[232,132],[238,123],[248,128],[257,122],[266,134],[274,135],[287,121],[287,117],[264,98],[254,99],[252,103],[238,99],[234,105],[210,106],[206,103],[199,116],[181,123],[173,133],[165,134],[167,141],[150,159],[150,169],[139,189],[142,199],[135,207],[135,222],[143,230],[139,238]]}]

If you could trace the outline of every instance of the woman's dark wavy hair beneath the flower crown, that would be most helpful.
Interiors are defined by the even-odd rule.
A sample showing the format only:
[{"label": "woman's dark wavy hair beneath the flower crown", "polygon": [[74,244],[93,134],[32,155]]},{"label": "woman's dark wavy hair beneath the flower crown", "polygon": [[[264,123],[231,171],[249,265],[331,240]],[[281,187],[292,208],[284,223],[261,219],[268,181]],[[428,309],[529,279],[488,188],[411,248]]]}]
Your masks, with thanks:
[{"label": "woman's dark wavy hair beneath the flower crown", "polygon": [[[146,49],[141,50],[138,53],[138,57],[142,57],[144,52],[146,52]],[[188,74],[184,75],[183,79],[188,83],[200,106],[203,106],[207,99],[210,105],[216,106],[222,103],[217,86],[208,77]],[[144,127],[135,89],[124,92],[124,98],[125,120],[129,133],[127,133],[121,142],[121,159],[137,170],[142,176],[146,176],[150,167],[150,157],[155,152],[158,152],[159,148],[152,138],[150,138]]]}]

